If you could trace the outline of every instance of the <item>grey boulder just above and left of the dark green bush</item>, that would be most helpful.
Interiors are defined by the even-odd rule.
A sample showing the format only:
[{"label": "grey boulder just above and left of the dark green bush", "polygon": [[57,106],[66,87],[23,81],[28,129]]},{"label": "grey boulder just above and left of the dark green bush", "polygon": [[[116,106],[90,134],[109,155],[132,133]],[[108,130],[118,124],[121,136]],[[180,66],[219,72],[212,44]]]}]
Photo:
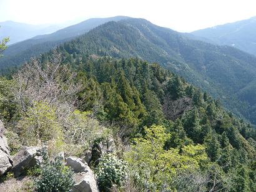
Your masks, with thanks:
[{"label": "grey boulder just above and left of the dark green bush", "polygon": [[39,165],[42,162],[40,148],[37,146],[24,146],[16,155],[13,156],[12,172],[14,176],[20,176],[25,170]]}]

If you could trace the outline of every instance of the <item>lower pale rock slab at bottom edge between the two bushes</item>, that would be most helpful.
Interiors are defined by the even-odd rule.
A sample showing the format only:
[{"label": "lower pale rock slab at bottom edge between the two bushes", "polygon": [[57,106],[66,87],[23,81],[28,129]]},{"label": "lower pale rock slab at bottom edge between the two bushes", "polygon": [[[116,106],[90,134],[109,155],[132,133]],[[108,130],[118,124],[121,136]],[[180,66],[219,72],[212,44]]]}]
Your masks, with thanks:
[{"label": "lower pale rock slab at bottom edge between the two bushes", "polygon": [[89,167],[86,172],[76,173],[74,181],[76,184],[72,192],[99,192],[94,173]]}]

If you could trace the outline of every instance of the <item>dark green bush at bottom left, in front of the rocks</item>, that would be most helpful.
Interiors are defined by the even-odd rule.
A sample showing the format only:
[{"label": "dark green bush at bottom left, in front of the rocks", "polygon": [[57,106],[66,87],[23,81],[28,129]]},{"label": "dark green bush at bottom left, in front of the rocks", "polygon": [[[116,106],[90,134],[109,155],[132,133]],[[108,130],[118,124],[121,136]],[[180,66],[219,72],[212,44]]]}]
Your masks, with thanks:
[{"label": "dark green bush at bottom left, in front of the rocks", "polygon": [[74,173],[59,158],[47,162],[41,168],[41,176],[35,181],[36,191],[71,191]]}]

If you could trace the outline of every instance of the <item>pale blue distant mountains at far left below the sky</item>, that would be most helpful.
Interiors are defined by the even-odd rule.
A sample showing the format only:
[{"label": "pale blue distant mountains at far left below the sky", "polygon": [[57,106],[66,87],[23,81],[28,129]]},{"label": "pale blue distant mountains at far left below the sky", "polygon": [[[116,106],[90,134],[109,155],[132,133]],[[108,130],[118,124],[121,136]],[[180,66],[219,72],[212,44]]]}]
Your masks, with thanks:
[{"label": "pale blue distant mountains at far left below the sky", "polygon": [[10,37],[8,44],[15,44],[34,36],[50,34],[61,29],[61,26],[31,25],[14,21],[0,22],[0,39]]}]

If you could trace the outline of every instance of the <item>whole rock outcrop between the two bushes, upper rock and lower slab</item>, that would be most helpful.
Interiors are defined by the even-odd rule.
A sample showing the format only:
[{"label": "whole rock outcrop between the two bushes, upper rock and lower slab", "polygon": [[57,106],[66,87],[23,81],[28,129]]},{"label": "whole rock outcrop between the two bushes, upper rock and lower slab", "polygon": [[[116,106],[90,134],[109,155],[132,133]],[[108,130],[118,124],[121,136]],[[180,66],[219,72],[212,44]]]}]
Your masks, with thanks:
[{"label": "whole rock outcrop between the two bushes, upper rock and lower slab", "polygon": [[75,156],[66,158],[66,165],[75,171],[75,185],[72,188],[74,192],[98,192],[97,182],[94,173],[87,163]]}]

